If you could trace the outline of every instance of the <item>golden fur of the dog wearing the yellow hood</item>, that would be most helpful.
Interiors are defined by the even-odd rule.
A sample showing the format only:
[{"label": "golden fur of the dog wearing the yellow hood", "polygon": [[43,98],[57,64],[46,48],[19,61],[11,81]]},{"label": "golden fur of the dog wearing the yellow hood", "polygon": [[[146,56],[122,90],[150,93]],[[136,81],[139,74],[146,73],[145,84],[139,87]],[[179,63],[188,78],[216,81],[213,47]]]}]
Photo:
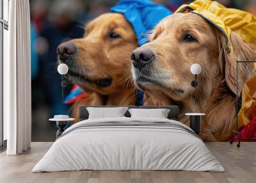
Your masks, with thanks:
[{"label": "golden fur of the dog wearing the yellow hood", "polygon": [[[184,42],[191,35],[195,42]],[[232,32],[231,52],[225,49],[225,36],[209,22],[193,13],[175,13],[163,19],[152,31],[150,42],[138,49],[149,48],[154,61],[143,69],[132,67],[136,86],[145,92],[145,105],[178,104],[180,120],[189,125],[185,113],[204,112],[200,136],[205,141],[228,137],[236,117],[236,61],[255,61],[256,51]],[[195,104],[194,80],[190,66],[199,63],[198,103]],[[244,72],[244,68],[248,70]],[[253,65],[239,63],[240,93]]]}]

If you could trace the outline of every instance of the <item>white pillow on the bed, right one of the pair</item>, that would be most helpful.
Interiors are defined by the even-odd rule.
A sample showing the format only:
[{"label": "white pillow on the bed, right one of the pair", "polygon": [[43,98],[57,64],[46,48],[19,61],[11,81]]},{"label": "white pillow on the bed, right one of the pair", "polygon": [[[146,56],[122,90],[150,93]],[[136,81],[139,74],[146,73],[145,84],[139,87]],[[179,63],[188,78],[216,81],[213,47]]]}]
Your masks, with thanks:
[{"label": "white pillow on the bed, right one of the pair", "polygon": [[167,118],[170,109],[128,109],[131,118]]}]

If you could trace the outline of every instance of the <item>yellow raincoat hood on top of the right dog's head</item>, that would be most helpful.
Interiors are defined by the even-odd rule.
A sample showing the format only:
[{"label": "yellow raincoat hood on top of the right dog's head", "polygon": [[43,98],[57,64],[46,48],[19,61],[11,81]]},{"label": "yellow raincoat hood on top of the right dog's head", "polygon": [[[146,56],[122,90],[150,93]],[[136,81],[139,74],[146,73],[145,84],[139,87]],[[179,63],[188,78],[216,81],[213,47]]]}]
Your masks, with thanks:
[{"label": "yellow raincoat hood on top of the right dog's head", "polygon": [[256,45],[256,17],[248,12],[226,8],[216,1],[196,0],[190,4],[183,4],[175,13],[195,13],[220,29],[226,37],[225,47],[231,31],[236,32],[244,42]]}]

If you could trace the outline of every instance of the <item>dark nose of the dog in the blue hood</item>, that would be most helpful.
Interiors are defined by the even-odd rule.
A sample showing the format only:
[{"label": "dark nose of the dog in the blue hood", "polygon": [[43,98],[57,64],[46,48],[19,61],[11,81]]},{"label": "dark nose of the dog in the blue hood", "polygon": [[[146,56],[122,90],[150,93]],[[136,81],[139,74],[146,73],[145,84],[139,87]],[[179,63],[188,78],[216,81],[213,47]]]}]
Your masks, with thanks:
[{"label": "dark nose of the dog in the blue hood", "polygon": [[76,52],[76,45],[72,42],[63,42],[57,47],[57,54],[61,61],[65,61],[69,55]]}]

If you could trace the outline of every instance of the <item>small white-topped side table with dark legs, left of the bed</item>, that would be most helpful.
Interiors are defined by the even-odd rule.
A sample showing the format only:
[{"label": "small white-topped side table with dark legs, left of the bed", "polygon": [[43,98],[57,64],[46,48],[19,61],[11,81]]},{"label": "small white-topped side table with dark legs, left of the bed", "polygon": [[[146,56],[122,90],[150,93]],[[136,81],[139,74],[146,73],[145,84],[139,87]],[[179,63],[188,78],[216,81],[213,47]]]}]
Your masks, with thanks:
[{"label": "small white-topped side table with dark legs, left of the bed", "polygon": [[58,131],[56,132],[56,139],[61,136],[65,128],[70,122],[74,122],[75,118],[69,118],[67,115],[54,115],[54,118],[49,119],[50,122],[56,122]]}]

